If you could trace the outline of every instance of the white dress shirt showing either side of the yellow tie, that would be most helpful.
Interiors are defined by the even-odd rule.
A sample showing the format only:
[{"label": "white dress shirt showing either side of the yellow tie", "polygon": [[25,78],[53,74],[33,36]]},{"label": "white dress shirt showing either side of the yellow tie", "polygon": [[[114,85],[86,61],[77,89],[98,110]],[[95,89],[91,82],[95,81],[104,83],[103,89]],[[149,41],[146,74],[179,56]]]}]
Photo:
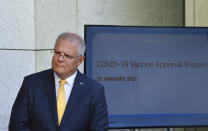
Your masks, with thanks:
[{"label": "white dress shirt showing either side of the yellow tie", "polygon": [[[72,91],[72,87],[74,85],[74,79],[77,75],[77,71],[71,75],[70,77],[66,78],[66,84],[64,84],[64,89],[65,89],[65,93],[66,93],[66,104],[69,100],[71,91]],[[54,72],[54,78],[55,78],[55,87],[56,87],[56,100],[57,100],[57,96],[58,96],[58,89],[60,86],[59,81],[61,80],[61,78]]]}]

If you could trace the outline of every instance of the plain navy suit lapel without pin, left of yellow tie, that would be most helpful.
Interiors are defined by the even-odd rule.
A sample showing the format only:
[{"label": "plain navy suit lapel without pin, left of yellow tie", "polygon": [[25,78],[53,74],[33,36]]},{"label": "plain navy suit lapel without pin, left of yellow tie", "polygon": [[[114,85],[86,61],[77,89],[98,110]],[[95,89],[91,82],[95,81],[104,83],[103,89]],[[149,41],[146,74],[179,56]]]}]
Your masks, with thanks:
[{"label": "plain navy suit lapel without pin, left of yellow tie", "polygon": [[54,72],[52,69],[49,70],[48,76],[45,79],[44,87],[49,100],[50,110],[56,126],[58,126],[58,115],[57,115],[57,104],[56,104],[56,91],[55,91],[55,80]]}]

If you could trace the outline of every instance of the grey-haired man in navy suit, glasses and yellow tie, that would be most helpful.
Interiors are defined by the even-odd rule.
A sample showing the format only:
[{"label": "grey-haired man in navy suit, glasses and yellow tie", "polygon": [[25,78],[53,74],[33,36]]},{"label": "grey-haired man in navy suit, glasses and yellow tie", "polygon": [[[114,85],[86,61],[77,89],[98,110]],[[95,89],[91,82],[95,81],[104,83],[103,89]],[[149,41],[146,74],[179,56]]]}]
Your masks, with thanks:
[{"label": "grey-haired man in navy suit, glasses and yellow tie", "polygon": [[104,88],[81,74],[84,40],[62,33],[56,40],[52,69],[24,78],[12,108],[10,131],[106,131]]}]

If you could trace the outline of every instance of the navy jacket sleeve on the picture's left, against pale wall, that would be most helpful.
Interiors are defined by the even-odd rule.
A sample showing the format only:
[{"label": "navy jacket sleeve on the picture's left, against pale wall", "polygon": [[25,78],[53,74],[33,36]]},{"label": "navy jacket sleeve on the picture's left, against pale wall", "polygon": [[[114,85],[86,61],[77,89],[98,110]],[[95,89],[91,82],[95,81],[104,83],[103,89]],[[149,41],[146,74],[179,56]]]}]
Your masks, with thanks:
[{"label": "navy jacket sleeve on the picture's left, against pale wall", "polygon": [[9,131],[29,131],[29,92],[26,78],[12,107]]}]

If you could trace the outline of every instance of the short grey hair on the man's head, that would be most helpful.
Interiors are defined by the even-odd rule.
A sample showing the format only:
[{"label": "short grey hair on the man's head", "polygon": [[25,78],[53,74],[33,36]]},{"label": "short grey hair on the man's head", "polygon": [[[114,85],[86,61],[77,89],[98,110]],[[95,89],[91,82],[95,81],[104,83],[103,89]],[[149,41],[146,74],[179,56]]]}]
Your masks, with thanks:
[{"label": "short grey hair on the man's head", "polygon": [[[79,43],[79,49],[78,49],[77,53],[78,53],[78,55],[84,56],[85,49],[86,49],[85,41],[78,34],[70,33],[70,32],[64,32],[64,33],[61,33],[57,37],[56,42],[59,39],[68,39],[69,41],[74,41],[74,40],[78,41],[78,43]],[[55,46],[56,46],[56,43],[55,43]]]}]

